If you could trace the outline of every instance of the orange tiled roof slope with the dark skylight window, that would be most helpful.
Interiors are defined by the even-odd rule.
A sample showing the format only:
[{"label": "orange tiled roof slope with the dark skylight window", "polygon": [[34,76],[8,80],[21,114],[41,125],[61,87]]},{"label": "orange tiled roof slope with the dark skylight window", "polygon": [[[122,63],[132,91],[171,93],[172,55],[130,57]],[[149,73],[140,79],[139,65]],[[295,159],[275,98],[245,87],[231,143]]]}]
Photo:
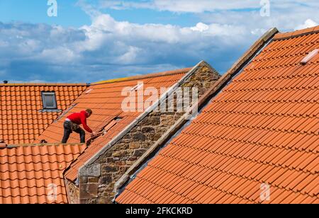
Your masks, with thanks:
[{"label": "orange tiled roof slope with the dark skylight window", "polygon": [[32,143],[59,112],[41,112],[41,91],[55,91],[57,109],[65,110],[86,84],[0,84],[0,139],[6,144]]}]

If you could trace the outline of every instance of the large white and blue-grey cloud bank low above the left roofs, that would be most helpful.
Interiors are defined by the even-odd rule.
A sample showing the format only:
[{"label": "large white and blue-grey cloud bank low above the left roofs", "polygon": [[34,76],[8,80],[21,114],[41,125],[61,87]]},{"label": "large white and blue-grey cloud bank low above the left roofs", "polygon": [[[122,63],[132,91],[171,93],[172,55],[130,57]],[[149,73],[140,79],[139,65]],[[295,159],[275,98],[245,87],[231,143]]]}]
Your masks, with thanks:
[{"label": "large white and blue-grey cloud bank low above the left roofs", "polygon": [[6,69],[9,80],[99,81],[191,67],[215,58],[214,53],[222,54],[233,43],[241,51],[247,38],[254,40],[245,28],[235,25],[137,24],[103,13],[79,29],[0,23],[0,63],[7,63],[0,70]]}]

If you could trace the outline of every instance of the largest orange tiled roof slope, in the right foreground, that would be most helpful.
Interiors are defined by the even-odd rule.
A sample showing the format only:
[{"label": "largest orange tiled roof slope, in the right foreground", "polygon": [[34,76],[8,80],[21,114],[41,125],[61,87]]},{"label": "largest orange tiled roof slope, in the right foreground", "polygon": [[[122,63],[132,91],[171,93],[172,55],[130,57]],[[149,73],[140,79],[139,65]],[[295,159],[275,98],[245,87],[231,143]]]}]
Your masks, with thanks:
[{"label": "largest orange tiled roof slope, in the right foreground", "polygon": [[318,204],[319,54],[300,64],[318,47],[277,35],[116,201]]}]

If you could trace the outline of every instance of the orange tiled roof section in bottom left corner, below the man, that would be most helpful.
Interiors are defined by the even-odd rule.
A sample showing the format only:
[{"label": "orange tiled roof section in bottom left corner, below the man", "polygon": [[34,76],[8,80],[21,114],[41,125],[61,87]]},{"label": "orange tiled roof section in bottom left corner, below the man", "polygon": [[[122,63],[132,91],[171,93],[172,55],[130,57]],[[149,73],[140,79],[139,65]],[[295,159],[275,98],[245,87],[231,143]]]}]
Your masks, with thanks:
[{"label": "orange tiled roof section in bottom left corner, below the man", "polygon": [[0,149],[0,204],[67,203],[63,171],[85,147],[47,144]]}]

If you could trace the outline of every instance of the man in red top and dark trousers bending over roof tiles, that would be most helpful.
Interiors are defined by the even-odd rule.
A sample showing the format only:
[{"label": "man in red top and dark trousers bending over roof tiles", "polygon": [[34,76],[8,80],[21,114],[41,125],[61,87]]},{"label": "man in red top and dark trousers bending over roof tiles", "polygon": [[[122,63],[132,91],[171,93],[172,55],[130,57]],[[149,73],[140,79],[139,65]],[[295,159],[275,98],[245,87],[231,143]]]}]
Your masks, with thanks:
[{"label": "man in red top and dark trousers bending over roof tiles", "polygon": [[[62,143],[67,143],[67,139],[69,139],[69,135],[74,131],[79,133],[81,143],[85,143],[85,132],[91,133],[91,136],[96,135],[96,132],[93,132],[90,127],[86,125],[86,118],[89,118],[92,115],[91,109],[86,109],[81,111],[80,113],[72,113],[65,119],[65,123],[63,124],[63,127],[65,128],[65,134],[62,139]],[[84,130],[82,130],[79,125],[83,125]]]}]

